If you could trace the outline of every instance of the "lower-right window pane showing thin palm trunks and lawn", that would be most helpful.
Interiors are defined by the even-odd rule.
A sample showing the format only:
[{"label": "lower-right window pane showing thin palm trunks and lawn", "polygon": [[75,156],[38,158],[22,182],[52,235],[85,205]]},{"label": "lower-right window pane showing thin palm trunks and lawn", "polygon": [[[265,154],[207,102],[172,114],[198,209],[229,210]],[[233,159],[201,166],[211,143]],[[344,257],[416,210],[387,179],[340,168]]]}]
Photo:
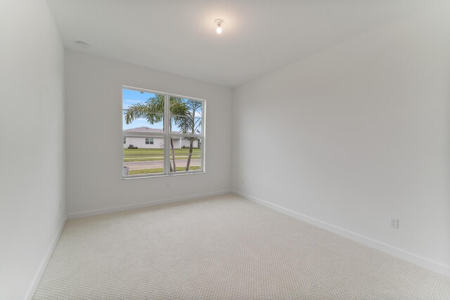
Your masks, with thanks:
[{"label": "lower-right window pane showing thin palm trunks and lawn", "polygon": [[[192,152],[191,152],[192,143]],[[170,164],[174,172],[200,171],[202,169],[202,143],[199,138],[172,137],[170,145]],[[191,152],[191,159],[189,153]],[[175,160],[175,161],[174,161]]]}]

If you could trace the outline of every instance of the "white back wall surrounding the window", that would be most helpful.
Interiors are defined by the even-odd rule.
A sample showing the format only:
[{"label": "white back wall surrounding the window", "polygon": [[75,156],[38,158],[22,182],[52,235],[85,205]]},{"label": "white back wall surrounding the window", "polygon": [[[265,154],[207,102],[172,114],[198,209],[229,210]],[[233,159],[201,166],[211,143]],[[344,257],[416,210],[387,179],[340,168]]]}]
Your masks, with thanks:
[{"label": "white back wall surrounding the window", "polygon": [[[71,217],[231,188],[231,89],[75,51],[65,58]],[[206,174],[122,180],[122,85],[207,100]]]}]

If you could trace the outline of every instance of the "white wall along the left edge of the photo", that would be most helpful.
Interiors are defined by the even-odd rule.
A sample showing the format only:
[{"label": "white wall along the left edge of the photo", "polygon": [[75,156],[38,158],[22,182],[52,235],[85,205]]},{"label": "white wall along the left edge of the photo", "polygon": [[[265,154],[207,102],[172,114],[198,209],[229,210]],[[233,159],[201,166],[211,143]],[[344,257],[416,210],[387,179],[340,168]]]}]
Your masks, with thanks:
[{"label": "white wall along the left edge of the photo", "polygon": [[46,1],[0,1],[0,45],[0,299],[24,299],[65,219],[64,50]]}]

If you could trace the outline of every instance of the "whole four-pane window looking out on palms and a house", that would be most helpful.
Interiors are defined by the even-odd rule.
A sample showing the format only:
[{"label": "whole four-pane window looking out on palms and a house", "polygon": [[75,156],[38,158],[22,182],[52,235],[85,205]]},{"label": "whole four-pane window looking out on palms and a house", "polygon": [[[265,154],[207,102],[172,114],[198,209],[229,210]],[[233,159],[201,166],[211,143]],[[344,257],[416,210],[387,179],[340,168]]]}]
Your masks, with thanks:
[{"label": "whole four-pane window looking out on palms and a house", "polygon": [[205,100],[122,88],[123,178],[203,173]]}]

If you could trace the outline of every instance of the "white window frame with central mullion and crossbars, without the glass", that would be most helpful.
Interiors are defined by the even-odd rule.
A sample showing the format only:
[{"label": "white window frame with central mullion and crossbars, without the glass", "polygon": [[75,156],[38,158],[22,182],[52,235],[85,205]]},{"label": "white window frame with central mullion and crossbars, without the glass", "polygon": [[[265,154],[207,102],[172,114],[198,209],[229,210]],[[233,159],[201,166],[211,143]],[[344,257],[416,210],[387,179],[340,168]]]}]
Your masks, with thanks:
[{"label": "white window frame with central mullion and crossbars, without the glass", "polygon": [[[143,132],[139,134],[133,134],[133,133],[127,133],[127,137],[141,137],[141,138],[155,138],[155,137],[162,137],[164,138],[164,172],[163,173],[156,173],[156,174],[137,174],[137,175],[129,175],[124,176],[122,169],[124,168],[124,152],[123,152],[123,145],[122,145],[122,179],[135,179],[135,178],[149,178],[149,177],[161,177],[161,176],[181,176],[181,175],[190,175],[190,174],[205,174],[205,145],[206,145],[206,139],[205,139],[205,129],[206,129],[206,100],[190,97],[190,96],[183,96],[183,95],[177,95],[174,93],[166,93],[161,91],[154,91],[150,89],[141,89],[136,88],[135,86],[122,86],[121,89],[121,95],[123,93],[123,89],[131,89],[134,91],[142,91],[144,93],[157,93],[159,95],[165,96],[165,103],[164,103],[164,132]],[[171,120],[171,114],[170,114],[170,103],[169,99],[170,96],[177,97],[177,98],[184,98],[194,101],[200,101],[202,102],[202,131],[199,134],[191,134],[191,133],[172,133],[169,132],[170,128],[170,120]],[[123,97],[120,97],[121,101],[121,119],[123,122]],[[195,116],[194,116],[195,117]],[[122,128],[122,137],[123,135],[123,128]],[[180,137],[180,138],[199,138],[201,140],[201,161],[200,161],[200,169],[199,170],[192,170],[192,171],[176,171],[171,172],[170,171],[170,139],[172,137]]]}]

